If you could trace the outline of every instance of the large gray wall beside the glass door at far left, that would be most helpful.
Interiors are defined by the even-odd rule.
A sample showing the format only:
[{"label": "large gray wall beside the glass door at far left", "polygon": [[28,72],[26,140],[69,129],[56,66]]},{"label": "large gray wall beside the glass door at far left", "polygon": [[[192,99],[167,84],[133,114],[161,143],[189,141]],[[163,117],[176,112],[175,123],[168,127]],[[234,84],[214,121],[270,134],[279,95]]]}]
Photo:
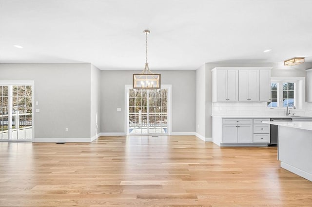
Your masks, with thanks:
[{"label": "large gray wall beside the glass door at far left", "polygon": [[90,138],[90,63],[0,64],[0,80],[35,81],[35,138]]}]

